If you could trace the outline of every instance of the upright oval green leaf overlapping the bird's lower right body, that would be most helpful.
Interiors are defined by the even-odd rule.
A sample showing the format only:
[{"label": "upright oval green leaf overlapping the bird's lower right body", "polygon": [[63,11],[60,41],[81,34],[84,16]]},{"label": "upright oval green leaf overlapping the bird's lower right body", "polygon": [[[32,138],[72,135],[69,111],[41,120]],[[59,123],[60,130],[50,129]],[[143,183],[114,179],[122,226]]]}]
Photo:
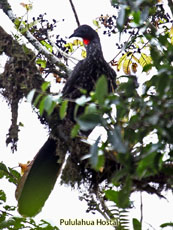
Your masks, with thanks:
[{"label": "upright oval green leaf overlapping the bird's lower right body", "polygon": [[104,103],[107,94],[108,94],[108,83],[106,77],[102,75],[96,82],[96,98],[100,105]]}]

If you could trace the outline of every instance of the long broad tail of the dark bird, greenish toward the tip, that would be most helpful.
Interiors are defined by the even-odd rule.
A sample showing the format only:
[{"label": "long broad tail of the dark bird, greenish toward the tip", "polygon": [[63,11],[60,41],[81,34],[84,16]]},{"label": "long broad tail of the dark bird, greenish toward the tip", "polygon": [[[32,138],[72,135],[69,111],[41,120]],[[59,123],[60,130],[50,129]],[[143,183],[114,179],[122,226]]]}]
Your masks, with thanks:
[{"label": "long broad tail of the dark bird, greenish toward the tip", "polygon": [[22,176],[16,189],[18,211],[23,216],[35,216],[49,197],[63,159],[57,154],[56,140],[49,138]]}]

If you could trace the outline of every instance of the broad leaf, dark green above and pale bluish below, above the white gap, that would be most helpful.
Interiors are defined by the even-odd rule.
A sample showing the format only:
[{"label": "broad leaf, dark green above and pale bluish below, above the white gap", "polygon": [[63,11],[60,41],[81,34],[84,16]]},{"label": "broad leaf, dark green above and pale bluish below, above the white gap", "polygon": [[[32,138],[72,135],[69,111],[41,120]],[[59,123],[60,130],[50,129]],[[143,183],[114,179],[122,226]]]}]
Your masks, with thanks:
[{"label": "broad leaf, dark green above and pale bluish below, above the white gap", "polygon": [[101,123],[101,117],[99,114],[82,114],[76,121],[80,125],[80,128],[84,131],[94,129],[97,125]]}]

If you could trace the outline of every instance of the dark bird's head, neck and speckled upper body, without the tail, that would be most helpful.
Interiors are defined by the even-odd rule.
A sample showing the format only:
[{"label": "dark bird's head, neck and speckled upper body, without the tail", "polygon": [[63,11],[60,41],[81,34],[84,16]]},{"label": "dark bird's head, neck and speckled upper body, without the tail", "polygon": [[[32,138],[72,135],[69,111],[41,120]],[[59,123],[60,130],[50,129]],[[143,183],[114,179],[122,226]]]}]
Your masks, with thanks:
[{"label": "dark bird's head, neck and speckled upper body, without the tail", "polygon": [[103,57],[100,38],[97,32],[88,25],[82,25],[74,31],[70,38],[72,37],[83,39],[87,57],[79,61],[75,66],[64,86],[63,96],[72,99],[80,97],[81,88],[87,90],[87,93],[91,92],[101,75],[107,77],[109,92],[114,92],[116,88],[116,73]]}]

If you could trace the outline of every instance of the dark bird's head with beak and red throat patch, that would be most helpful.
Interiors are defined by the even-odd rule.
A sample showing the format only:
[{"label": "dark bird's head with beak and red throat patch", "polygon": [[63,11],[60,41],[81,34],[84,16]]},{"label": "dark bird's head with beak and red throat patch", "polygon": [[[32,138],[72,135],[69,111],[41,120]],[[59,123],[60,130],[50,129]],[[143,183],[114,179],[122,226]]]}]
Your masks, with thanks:
[{"label": "dark bird's head with beak and red throat patch", "polygon": [[85,45],[88,45],[93,39],[98,38],[98,34],[88,25],[79,26],[69,37],[79,37],[83,39]]}]

